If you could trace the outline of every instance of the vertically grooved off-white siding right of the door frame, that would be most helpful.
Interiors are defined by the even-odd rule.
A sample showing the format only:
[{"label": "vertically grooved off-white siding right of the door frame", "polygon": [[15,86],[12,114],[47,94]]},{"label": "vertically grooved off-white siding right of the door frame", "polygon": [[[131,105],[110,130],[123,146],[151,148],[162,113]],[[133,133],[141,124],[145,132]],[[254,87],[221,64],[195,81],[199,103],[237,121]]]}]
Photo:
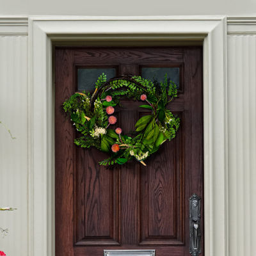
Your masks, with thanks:
[{"label": "vertically grooved off-white siding right of the door frame", "polygon": [[256,35],[228,35],[229,255],[256,255]]}]

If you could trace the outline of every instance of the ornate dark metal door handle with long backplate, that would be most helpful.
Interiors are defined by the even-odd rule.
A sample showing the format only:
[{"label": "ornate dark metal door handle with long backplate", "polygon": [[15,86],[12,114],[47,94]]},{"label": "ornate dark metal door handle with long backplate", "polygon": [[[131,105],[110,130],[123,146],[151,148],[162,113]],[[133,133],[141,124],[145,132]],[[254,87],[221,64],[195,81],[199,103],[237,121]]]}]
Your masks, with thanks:
[{"label": "ornate dark metal door handle with long backplate", "polygon": [[200,250],[200,204],[201,198],[193,194],[189,198],[189,253],[193,256],[198,256],[201,253]]}]

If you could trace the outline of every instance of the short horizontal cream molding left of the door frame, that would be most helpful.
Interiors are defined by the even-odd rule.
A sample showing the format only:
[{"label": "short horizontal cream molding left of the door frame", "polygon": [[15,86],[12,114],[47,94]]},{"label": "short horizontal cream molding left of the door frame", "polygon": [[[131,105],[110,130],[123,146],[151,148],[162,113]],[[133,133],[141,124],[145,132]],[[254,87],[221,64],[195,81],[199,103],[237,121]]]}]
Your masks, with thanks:
[{"label": "short horizontal cream molding left of the door frame", "polygon": [[28,17],[0,17],[0,35],[28,35]]}]

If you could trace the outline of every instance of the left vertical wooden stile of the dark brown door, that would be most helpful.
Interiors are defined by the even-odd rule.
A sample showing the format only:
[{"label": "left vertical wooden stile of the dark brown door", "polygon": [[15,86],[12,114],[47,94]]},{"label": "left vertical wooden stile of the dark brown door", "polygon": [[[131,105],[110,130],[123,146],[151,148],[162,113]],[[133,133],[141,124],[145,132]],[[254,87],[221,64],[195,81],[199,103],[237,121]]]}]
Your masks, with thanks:
[{"label": "left vertical wooden stile of the dark brown door", "polygon": [[[74,255],[74,129],[63,112],[62,104],[72,93],[73,52],[56,52],[56,99],[55,99],[55,225],[56,256]],[[67,225],[68,223],[68,225]],[[72,239],[70,239],[72,237]]]}]

